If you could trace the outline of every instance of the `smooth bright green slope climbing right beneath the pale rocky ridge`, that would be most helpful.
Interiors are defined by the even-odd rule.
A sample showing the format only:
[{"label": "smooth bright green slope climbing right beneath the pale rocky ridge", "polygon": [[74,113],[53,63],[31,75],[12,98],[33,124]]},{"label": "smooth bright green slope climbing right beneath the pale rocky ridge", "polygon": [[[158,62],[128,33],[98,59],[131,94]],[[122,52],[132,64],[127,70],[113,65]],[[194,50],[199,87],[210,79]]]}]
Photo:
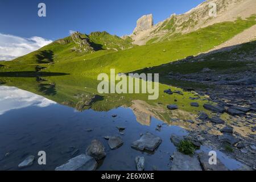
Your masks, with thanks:
[{"label": "smooth bright green slope climbing right beneath the pale rocky ridge", "polygon": [[138,46],[93,59],[86,57],[85,61],[82,57],[74,57],[67,64],[51,65],[47,71],[95,78],[98,73],[109,73],[110,68],[115,68],[117,72],[132,72],[146,67],[154,67],[208,51],[255,23],[255,16],[247,20],[238,19],[236,22],[217,23],[189,34],[177,35],[168,42]]}]

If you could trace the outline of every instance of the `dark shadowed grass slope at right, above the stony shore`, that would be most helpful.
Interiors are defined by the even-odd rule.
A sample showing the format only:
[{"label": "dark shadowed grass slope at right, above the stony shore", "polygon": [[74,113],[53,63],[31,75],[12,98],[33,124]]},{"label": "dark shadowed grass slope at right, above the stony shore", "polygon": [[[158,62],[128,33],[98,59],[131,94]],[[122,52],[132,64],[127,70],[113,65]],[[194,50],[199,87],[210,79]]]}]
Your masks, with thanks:
[{"label": "dark shadowed grass slope at right, above the stony shore", "polygon": [[[170,63],[167,64],[143,68],[130,73],[159,73],[159,82],[161,84],[171,84],[181,88],[209,88],[209,85],[200,84],[197,82],[175,80],[174,78],[170,77],[170,75],[176,73],[179,73],[180,75],[199,73],[204,68],[210,68],[216,71],[226,71],[230,68],[241,68],[250,61],[243,60],[240,55],[255,52],[255,46],[256,41],[251,41],[235,46],[220,48],[208,53],[201,53],[197,56],[188,56],[185,59],[170,61]],[[126,75],[127,74],[129,73],[126,73]]]}]

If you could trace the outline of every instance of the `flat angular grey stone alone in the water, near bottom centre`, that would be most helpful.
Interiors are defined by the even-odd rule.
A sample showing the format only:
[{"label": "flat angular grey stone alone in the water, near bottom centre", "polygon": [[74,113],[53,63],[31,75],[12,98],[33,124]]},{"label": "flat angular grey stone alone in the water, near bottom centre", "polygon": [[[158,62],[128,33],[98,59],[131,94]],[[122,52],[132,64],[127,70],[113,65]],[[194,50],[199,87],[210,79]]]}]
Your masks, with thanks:
[{"label": "flat angular grey stone alone in the water, near bottom centre", "polygon": [[152,133],[147,132],[143,134],[140,139],[133,142],[131,147],[137,150],[148,150],[155,151],[155,149],[162,143],[162,139],[153,135]]}]

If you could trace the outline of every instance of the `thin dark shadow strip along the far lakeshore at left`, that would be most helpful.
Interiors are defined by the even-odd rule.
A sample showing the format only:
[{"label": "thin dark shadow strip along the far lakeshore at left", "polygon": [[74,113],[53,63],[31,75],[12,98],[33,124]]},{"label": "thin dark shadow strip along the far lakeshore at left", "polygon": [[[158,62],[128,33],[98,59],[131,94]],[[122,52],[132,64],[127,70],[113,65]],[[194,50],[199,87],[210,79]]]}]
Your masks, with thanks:
[{"label": "thin dark shadow strip along the far lakeshore at left", "polygon": [[0,77],[39,77],[39,76],[64,76],[68,73],[55,73],[55,72],[0,72]]}]

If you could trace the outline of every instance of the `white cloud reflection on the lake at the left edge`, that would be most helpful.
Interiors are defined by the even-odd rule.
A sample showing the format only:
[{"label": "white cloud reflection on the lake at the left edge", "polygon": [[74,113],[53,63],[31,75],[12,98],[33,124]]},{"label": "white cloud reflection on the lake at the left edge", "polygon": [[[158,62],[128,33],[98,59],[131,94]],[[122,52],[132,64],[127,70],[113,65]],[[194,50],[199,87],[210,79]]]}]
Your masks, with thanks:
[{"label": "white cloud reflection on the lake at the left edge", "polygon": [[0,86],[0,95],[0,115],[28,106],[47,107],[56,104],[47,98],[11,86]]}]

